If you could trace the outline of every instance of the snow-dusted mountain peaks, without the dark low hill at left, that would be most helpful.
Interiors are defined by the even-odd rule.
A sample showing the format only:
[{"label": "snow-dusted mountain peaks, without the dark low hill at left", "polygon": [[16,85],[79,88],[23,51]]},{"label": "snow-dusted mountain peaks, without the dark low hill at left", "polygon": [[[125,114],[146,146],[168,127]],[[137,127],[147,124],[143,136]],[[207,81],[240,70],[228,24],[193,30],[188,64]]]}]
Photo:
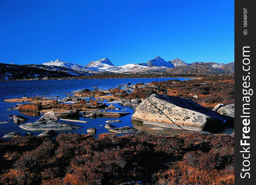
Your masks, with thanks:
[{"label": "snow-dusted mountain peaks, without the dark low hill at left", "polygon": [[[111,61],[107,58],[100,59],[97,61],[92,61],[86,66],[80,64],[73,64],[63,62],[61,60],[55,60],[47,63],[43,63],[43,65],[48,66],[61,66],[64,68],[72,69],[78,72],[89,72],[91,74],[101,74],[101,73],[162,73],[162,72],[171,72],[178,74],[186,73],[186,69],[188,69],[188,73],[201,74],[207,70],[209,73],[232,73],[233,68],[229,66],[229,70],[225,71],[225,64],[223,63],[213,63],[213,62],[194,62],[191,64],[187,64],[184,61],[176,58],[174,60],[165,61],[160,56],[149,60],[147,63],[140,64],[126,64],[122,66],[115,66],[111,63]],[[189,67],[190,66],[190,67]],[[187,68],[188,67],[188,68]],[[173,69],[173,70],[172,70]],[[185,71],[183,71],[185,70]]]}]

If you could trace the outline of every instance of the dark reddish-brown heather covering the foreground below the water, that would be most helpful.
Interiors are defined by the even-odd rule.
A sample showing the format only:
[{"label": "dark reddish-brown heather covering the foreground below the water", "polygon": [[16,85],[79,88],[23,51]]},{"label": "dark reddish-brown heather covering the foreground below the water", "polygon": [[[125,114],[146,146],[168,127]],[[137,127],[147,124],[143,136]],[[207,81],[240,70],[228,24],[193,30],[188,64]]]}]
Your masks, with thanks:
[{"label": "dark reddish-brown heather covering the foreground below the water", "polygon": [[143,132],[0,140],[1,184],[233,184],[234,138]]}]

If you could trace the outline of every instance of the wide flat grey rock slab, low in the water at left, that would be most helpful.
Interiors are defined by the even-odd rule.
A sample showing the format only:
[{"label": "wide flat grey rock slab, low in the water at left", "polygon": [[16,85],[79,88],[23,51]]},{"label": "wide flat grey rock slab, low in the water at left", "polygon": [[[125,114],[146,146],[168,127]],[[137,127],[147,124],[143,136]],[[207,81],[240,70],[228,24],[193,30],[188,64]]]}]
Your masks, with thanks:
[{"label": "wide flat grey rock slab, low in the water at left", "polygon": [[25,130],[73,130],[80,128],[78,125],[52,120],[30,122],[19,125],[19,127]]}]

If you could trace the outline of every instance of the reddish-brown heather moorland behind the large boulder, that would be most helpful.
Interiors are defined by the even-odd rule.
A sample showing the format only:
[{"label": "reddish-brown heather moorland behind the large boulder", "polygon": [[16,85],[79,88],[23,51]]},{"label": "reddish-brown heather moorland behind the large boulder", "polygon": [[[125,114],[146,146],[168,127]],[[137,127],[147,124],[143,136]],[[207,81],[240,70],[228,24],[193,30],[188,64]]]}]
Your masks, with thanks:
[{"label": "reddish-brown heather moorland behind the large boulder", "polygon": [[183,97],[210,109],[219,103],[234,103],[233,76],[204,76],[186,81],[167,80],[152,82],[150,85],[159,85],[160,88],[167,89],[170,96]]}]

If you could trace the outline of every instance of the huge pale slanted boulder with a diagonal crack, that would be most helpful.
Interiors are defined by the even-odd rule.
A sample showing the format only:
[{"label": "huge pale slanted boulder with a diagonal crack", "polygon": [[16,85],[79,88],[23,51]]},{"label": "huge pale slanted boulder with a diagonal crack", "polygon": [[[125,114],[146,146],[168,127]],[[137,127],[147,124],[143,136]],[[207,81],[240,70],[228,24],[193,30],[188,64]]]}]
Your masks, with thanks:
[{"label": "huge pale slanted boulder with a diagonal crack", "polygon": [[218,130],[224,120],[216,112],[193,101],[152,94],[134,110],[132,120],[182,130]]}]

